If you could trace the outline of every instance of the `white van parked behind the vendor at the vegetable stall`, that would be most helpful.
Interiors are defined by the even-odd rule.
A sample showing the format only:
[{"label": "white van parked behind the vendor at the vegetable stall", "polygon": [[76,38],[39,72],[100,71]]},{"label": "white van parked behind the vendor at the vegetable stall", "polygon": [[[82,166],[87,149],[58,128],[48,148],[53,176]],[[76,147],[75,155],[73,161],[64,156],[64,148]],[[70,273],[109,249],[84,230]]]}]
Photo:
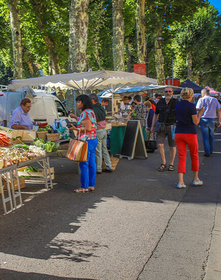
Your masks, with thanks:
[{"label": "white van parked behind the vendor at the vegetable stall", "polygon": [[[68,119],[70,122],[76,122],[69,117],[67,110],[61,101],[52,94],[43,90],[34,90],[35,96],[31,99],[31,109],[29,117],[34,122],[47,122],[52,125],[55,119]],[[19,91],[8,91],[0,89],[0,126],[9,127],[12,112],[20,106],[20,102],[25,93]]]}]

